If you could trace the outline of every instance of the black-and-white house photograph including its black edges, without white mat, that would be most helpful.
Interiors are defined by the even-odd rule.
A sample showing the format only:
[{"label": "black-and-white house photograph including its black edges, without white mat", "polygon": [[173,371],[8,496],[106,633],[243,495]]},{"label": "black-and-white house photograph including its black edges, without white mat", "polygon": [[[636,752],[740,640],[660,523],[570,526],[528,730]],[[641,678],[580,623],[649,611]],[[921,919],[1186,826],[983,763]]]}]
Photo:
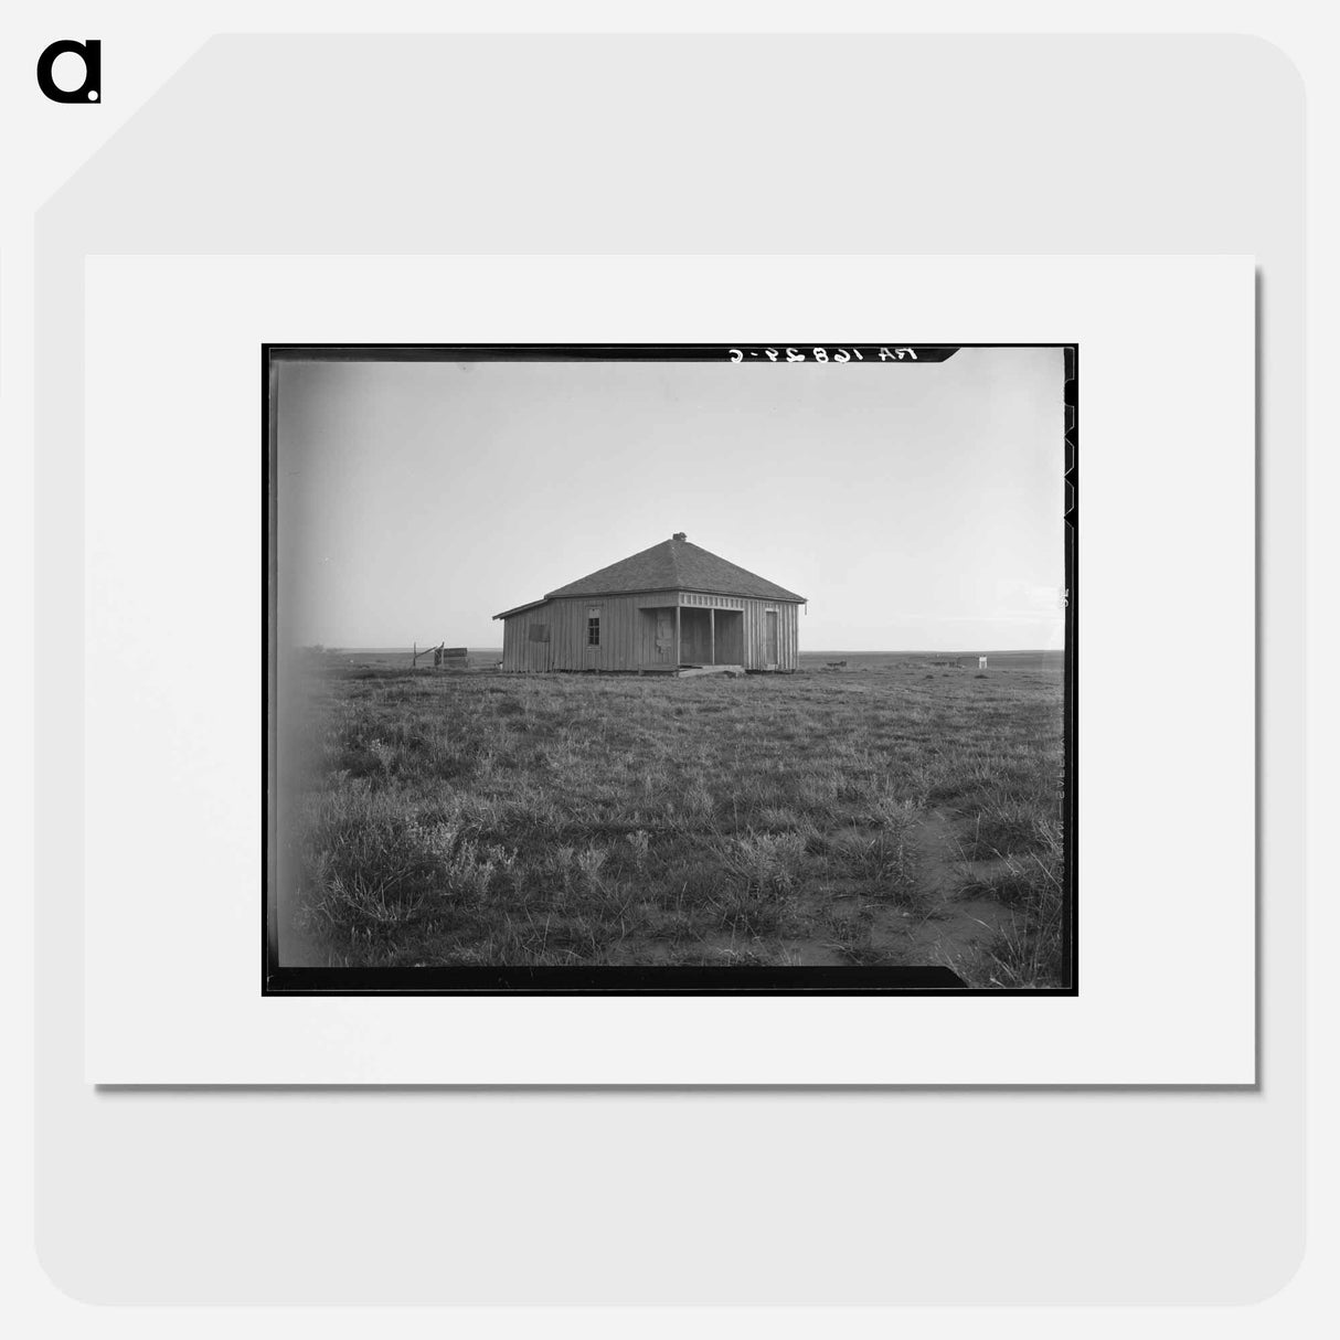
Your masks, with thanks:
[{"label": "black-and-white house photograph including its black edges, without white mat", "polygon": [[265,346],[265,992],[1076,992],[1077,362]]}]

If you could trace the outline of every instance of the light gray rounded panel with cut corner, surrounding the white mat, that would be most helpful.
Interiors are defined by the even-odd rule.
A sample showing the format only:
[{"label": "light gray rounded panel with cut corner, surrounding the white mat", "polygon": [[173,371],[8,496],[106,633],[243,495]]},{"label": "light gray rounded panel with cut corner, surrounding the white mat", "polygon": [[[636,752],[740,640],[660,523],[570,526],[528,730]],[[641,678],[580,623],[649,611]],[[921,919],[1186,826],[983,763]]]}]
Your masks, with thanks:
[{"label": "light gray rounded panel with cut corner, surrounding the white mat", "polygon": [[[86,253],[1254,253],[1262,1083],[92,1092],[71,951],[83,669],[68,658],[38,683],[36,1227],[55,1282],[127,1302],[1230,1302],[1280,1288],[1302,1252],[1301,210],[1301,84],[1253,39],[208,44],[38,218],[50,645],[82,602]],[[1175,356],[1175,332],[1151,340]],[[1213,480],[1213,444],[1197,448]],[[1187,949],[1194,990],[1206,965]]]}]

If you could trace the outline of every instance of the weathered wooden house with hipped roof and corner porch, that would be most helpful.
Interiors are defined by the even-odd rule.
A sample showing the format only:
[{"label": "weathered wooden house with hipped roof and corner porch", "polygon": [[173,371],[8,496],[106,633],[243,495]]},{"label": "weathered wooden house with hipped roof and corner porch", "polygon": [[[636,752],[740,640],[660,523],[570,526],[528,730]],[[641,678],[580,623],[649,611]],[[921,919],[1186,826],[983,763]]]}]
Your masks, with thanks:
[{"label": "weathered wooden house with hipped roof and corner porch", "polygon": [[804,603],[679,532],[493,618],[505,671],[789,671]]}]

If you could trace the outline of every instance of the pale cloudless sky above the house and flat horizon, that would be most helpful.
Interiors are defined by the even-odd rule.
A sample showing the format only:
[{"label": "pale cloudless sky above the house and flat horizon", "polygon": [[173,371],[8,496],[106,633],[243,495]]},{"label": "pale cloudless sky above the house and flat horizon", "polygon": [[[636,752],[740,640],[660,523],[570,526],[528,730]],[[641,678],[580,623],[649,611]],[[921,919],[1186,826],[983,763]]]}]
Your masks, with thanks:
[{"label": "pale cloudless sky above the house and flat horizon", "polygon": [[498,647],[683,531],[801,651],[1061,647],[1061,359],[280,363],[280,642]]}]

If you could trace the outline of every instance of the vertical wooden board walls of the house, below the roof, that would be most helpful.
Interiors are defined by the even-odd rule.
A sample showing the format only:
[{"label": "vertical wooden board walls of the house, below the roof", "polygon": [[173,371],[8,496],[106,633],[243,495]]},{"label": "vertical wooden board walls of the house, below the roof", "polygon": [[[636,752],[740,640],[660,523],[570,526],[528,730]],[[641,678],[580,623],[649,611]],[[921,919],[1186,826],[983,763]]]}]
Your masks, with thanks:
[{"label": "vertical wooden board walls of the house, below the roof", "polygon": [[[701,622],[702,634],[690,646],[685,620],[685,659],[706,661],[708,611],[740,615],[722,620],[717,628],[717,663],[742,665],[746,670],[765,670],[766,611],[777,615],[777,669],[799,666],[800,606],[791,600],[757,600],[695,591],[654,591],[645,595],[561,596],[503,620],[503,669],[513,673],[545,670],[638,670],[647,666],[673,666],[675,607]],[[590,646],[587,638],[591,611],[599,611],[600,645]],[[701,612],[699,612],[701,611]],[[682,615],[681,615],[682,616]],[[539,641],[532,628],[545,626],[548,641]],[[742,627],[741,627],[742,624]],[[669,646],[663,632],[669,628]],[[737,631],[738,630],[738,631]],[[741,646],[742,643],[742,646]],[[725,659],[729,655],[732,659]]]}]

